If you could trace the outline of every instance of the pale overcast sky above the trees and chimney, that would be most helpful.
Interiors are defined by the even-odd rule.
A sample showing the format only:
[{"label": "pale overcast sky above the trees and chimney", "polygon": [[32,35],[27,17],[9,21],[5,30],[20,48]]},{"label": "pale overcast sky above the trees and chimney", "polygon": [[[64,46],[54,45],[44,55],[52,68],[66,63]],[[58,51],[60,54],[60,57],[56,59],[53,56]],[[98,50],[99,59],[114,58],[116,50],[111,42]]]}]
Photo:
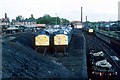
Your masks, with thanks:
[{"label": "pale overcast sky above the trees and chimney", "polygon": [[83,21],[88,16],[89,21],[118,20],[118,2],[120,0],[1,0],[0,18],[5,12],[10,19],[22,15],[25,18],[31,14],[35,18],[44,14],[66,18],[70,21],[80,20],[80,9],[83,7]]}]

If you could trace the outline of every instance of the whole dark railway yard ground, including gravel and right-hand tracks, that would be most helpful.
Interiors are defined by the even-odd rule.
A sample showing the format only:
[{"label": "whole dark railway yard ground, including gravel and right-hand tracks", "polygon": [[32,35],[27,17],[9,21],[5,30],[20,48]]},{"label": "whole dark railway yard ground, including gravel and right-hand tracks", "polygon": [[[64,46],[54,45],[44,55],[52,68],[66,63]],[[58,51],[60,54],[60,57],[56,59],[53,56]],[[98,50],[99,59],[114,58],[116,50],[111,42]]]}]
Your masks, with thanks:
[{"label": "whole dark railway yard ground, including gravel and right-hand tracks", "polygon": [[[89,34],[82,29],[74,28],[70,36],[69,45],[64,46],[65,53],[67,53],[64,55],[64,51],[56,52],[54,50],[56,47],[53,47],[52,50],[45,49],[44,52],[36,50],[34,40],[36,32],[34,31],[3,34],[1,41],[2,79],[120,80],[119,52],[116,52],[95,34]],[[57,41],[57,39],[55,40]],[[53,41],[52,38],[51,41]],[[58,42],[60,44],[60,41]],[[100,58],[100,61],[106,61],[102,66],[105,69],[97,71],[97,67],[100,68],[102,64],[98,66],[96,63],[100,63],[100,61],[96,61],[96,57],[93,55],[101,51],[104,59]]]}]

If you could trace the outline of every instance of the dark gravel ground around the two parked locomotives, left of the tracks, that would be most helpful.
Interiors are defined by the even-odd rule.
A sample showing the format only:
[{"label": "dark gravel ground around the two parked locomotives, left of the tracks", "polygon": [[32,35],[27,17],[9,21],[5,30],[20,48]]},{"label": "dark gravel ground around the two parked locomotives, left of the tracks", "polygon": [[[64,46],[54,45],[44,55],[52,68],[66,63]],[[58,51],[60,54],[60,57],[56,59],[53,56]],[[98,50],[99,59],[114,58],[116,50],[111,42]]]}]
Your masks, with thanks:
[{"label": "dark gravel ground around the two parked locomotives, left of the tracks", "polygon": [[[66,57],[34,50],[34,34],[15,35],[17,41],[2,43],[2,77],[6,78],[82,78],[83,38],[74,30]],[[61,53],[60,53],[61,54]]]}]

